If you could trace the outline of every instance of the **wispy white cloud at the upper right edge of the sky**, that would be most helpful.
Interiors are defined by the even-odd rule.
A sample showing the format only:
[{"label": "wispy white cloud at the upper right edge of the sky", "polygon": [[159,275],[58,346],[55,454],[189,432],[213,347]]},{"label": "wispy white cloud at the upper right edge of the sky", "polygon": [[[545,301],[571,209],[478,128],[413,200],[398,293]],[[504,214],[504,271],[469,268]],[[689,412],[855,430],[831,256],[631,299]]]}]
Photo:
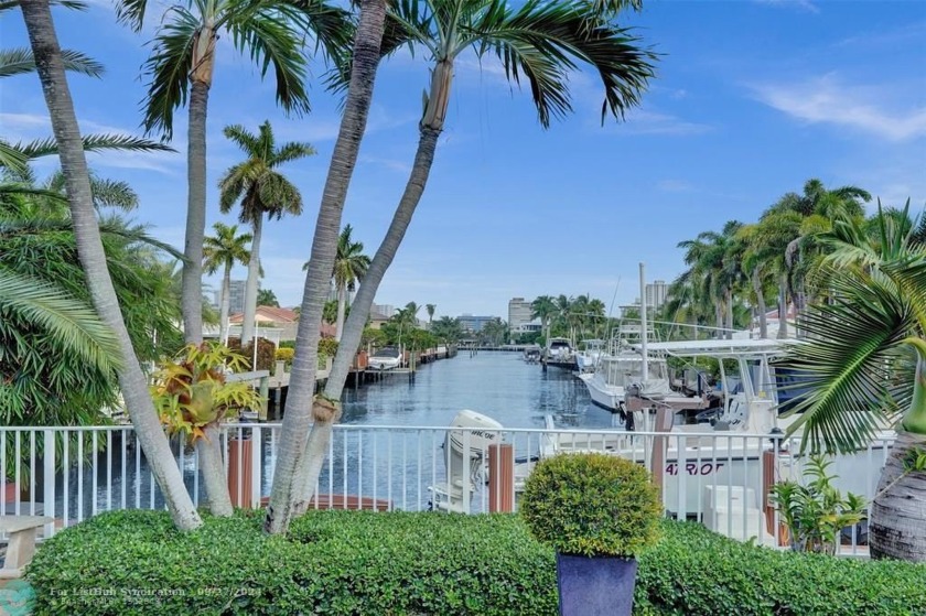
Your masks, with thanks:
[{"label": "wispy white cloud at the upper right edge of the sky", "polygon": [[926,136],[926,107],[885,108],[887,87],[851,86],[832,74],[796,84],[752,87],[765,105],[809,123],[849,127],[891,141]]}]

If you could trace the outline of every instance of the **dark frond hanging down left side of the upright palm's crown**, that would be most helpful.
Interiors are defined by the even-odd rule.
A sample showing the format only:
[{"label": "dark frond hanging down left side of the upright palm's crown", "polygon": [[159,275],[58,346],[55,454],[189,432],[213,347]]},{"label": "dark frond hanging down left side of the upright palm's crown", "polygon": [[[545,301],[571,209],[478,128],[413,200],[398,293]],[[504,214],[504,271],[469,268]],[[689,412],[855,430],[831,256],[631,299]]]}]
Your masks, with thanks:
[{"label": "dark frond hanging down left side of the upright palm's crown", "polygon": [[200,28],[196,17],[183,7],[172,7],[164,19],[174,19],[158,31],[154,47],[142,71],[150,76],[143,99],[146,133],[173,137],[173,112],[186,102],[189,72],[193,62],[193,42]]}]

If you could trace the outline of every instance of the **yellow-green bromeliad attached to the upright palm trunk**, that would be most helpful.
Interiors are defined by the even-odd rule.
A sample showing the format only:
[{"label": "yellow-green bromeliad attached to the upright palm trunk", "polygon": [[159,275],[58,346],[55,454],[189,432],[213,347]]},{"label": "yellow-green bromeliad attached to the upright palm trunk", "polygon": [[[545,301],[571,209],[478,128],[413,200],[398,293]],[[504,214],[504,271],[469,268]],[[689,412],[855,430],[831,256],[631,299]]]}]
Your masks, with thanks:
[{"label": "yellow-green bromeliad attached to the upright palm trunk", "polygon": [[257,408],[261,399],[250,385],[225,380],[227,370],[245,366],[244,356],[217,343],[187,345],[174,359],[162,363],[151,396],[168,431],[195,444],[229,409]]}]

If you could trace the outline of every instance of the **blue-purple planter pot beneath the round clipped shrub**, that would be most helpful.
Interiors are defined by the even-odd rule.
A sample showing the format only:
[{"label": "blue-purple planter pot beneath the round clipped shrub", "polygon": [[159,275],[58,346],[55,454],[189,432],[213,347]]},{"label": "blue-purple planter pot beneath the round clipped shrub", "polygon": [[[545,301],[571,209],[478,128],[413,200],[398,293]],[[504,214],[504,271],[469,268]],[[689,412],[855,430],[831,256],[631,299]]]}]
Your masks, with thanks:
[{"label": "blue-purple planter pot beneath the round clipped shrub", "polygon": [[557,553],[560,616],[631,616],[635,559]]}]

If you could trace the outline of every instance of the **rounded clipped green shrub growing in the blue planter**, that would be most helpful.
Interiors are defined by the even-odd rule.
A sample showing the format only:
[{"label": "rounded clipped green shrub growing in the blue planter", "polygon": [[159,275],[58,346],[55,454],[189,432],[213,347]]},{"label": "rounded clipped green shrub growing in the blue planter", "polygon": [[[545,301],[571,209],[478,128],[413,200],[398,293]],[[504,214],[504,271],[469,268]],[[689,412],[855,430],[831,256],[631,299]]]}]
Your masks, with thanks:
[{"label": "rounded clipped green shrub growing in the blue planter", "polygon": [[659,540],[663,505],[649,472],[613,455],[541,461],[518,508],[531,534],[562,554],[635,556]]}]

